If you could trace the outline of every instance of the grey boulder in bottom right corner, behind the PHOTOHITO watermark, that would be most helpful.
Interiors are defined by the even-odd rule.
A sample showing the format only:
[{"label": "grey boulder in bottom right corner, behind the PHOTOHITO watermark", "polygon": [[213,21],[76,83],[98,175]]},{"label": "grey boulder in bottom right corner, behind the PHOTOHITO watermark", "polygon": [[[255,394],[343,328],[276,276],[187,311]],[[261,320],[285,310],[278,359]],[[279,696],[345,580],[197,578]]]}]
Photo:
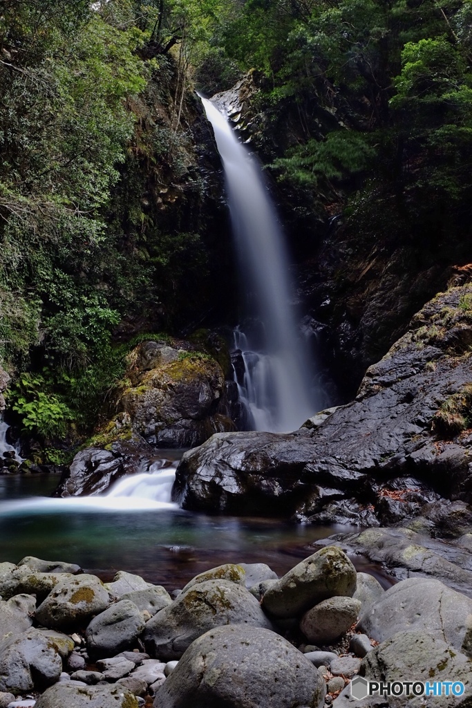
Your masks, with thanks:
[{"label": "grey boulder in bottom right corner, behind the PHOTOHITO watermark", "polygon": [[[388,696],[388,708],[470,708],[472,705],[472,661],[442,639],[426,632],[398,632],[369,651],[359,673],[373,681],[462,681],[462,697]],[[387,700],[378,695],[353,702],[347,686],[333,702],[333,708],[379,708]]]}]

